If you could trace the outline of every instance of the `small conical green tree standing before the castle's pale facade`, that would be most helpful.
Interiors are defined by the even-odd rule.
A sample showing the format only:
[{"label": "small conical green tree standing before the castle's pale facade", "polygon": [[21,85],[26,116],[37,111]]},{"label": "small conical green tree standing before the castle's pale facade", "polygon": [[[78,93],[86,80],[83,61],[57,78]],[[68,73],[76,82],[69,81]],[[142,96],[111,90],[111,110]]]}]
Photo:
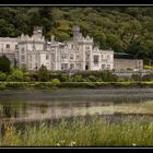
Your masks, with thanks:
[{"label": "small conical green tree standing before the castle's pale facade", "polygon": [[47,70],[47,67],[42,64],[42,67],[38,70],[38,80],[39,81],[48,81],[49,80],[49,72]]}]

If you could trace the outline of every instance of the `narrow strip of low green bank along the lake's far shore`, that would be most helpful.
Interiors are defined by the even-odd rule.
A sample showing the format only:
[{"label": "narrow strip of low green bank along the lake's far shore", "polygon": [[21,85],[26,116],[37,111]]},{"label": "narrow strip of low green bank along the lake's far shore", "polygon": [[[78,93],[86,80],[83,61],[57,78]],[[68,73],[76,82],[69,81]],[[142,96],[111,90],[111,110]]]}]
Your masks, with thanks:
[{"label": "narrow strip of low green bank along the lake's far shore", "polygon": [[0,90],[10,89],[104,89],[153,87],[153,82],[0,82]]}]

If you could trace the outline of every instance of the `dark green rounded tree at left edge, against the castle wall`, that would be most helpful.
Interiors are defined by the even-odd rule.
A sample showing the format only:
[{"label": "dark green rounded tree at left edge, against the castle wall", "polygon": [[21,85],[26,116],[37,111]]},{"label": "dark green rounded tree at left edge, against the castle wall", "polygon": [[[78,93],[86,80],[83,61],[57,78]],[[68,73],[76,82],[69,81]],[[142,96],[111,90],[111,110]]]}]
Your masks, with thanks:
[{"label": "dark green rounded tree at left edge, against the castle wall", "polygon": [[0,71],[10,72],[10,68],[11,68],[11,61],[9,60],[9,58],[5,55],[0,57]]}]

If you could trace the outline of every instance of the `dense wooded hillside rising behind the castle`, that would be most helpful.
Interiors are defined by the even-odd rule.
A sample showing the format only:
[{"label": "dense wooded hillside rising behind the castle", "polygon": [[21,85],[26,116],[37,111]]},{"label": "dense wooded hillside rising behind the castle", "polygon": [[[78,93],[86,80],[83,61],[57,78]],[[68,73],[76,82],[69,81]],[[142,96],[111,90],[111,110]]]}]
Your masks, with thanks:
[{"label": "dense wooded hillside rising behind the castle", "polygon": [[60,42],[80,25],[102,49],[153,59],[153,8],[0,8],[0,37],[32,35],[35,25],[44,27],[46,38],[54,34]]}]

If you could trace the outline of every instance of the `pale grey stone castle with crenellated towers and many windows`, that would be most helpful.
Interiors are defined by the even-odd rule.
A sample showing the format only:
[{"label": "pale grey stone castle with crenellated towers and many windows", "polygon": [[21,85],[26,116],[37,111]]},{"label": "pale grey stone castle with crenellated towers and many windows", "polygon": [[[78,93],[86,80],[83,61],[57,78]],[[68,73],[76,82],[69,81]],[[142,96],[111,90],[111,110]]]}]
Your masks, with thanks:
[{"label": "pale grey stone castle with crenellated towers and many windows", "polygon": [[34,27],[32,36],[22,34],[17,38],[0,37],[0,54],[4,54],[19,67],[38,70],[42,64],[48,70],[113,70],[114,51],[101,50],[94,45],[93,37],[84,37],[79,26],[73,26],[73,37],[59,43],[51,36],[48,42],[42,27]]}]

